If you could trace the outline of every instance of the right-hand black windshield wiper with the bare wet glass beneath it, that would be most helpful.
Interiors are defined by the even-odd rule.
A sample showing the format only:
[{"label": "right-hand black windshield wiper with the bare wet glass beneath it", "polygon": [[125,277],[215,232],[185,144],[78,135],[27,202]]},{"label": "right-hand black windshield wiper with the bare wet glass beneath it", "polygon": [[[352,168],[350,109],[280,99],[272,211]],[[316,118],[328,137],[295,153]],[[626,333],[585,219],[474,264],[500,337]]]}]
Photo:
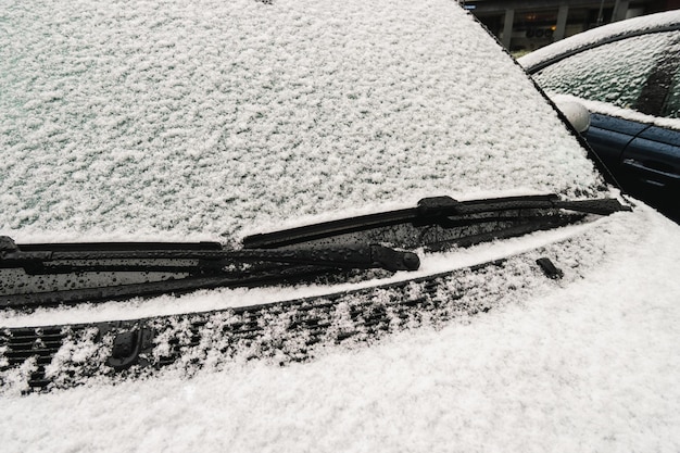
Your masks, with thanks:
[{"label": "right-hand black windshield wiper with the bare wet glass beneath it", "polygon": [[[243,239],[243,247],[266,249],[300,243],[343,243],[360,237],[390,242],[387,237],[399,237],[394,242],[405,249],[439,250],[452,244],[469,246],[554,228],[578,222],[585,214],[609,215],[618,211],[630,211],[630,207],[616,199],[565,201],[556,194],[471,201],[433,197],[421,199],[415,207],[248,236]],[[405,230],[392,232],[395,227],[403,229],[404,226]],[[372,235],[372,230],[375,234]]]}]

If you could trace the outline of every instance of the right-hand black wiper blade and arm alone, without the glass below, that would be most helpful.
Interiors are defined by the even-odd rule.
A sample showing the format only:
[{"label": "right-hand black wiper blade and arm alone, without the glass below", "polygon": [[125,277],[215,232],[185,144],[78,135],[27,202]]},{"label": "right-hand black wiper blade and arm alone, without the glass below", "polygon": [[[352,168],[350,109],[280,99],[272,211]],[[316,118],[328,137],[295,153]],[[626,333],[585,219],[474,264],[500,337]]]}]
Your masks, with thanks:
[{"label": "right-hand black wiper blade and arm alone, without the glass below", "polygon": [[506,197],[473,201],[457,201],[451,197],[432,197],[421,199],[416,207],[248,236],[243,239],[243,247],[257,249],[286,247],[320,238],[403,224],[412,224],[414,226],[441,225],[446,227],[452,222],[463,221],[469,225],[487,222],[490,218],[489,216],[476,217],[476,215],[515,210],[566,210],[583,214],[609,215],[618,211],[630,211],[630,207],[621,204],[616,199],[564,201],[556,194]]}]

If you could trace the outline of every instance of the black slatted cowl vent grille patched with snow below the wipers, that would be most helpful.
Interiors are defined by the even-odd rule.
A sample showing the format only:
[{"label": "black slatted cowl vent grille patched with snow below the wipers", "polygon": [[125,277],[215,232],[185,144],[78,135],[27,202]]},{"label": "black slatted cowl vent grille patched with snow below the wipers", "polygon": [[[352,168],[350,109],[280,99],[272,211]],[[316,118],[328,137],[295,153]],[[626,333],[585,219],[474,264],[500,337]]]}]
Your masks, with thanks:
[{"label": "black slatted cowl vent grille patched with snow below the wipers", "polygon": [[[538,251],[534,251],[538,252]],[[0,330],[3,391],[114,383],[161,369],[187,376],[228,363],[305,362],[329,348],[440,328],[527,297],[545,278],[527,253],[421,279],[318,298],[137,320]],[[555,260],[553,257],[553,260]],[[555,260],[556,261],[556,260]]]}]

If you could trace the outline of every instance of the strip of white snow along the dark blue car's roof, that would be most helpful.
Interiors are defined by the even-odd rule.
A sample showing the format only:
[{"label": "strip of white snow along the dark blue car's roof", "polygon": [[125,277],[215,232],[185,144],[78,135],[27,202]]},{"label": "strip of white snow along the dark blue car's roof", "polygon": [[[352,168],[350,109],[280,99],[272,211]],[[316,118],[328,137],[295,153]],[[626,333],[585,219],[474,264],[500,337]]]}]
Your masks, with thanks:
[{"label": "strip of white snow along the dark blue car's roof", "polygon": [[594,46],[619,36],[640,35],[671,27],[677,28],[679,24],[680,10],[633,17],[570,36],[567,39],[559,40],[528,53],[517,59],[517,62],[527,71],[531,71],[534,66],[545,61],[568,54],[577,49]]}]

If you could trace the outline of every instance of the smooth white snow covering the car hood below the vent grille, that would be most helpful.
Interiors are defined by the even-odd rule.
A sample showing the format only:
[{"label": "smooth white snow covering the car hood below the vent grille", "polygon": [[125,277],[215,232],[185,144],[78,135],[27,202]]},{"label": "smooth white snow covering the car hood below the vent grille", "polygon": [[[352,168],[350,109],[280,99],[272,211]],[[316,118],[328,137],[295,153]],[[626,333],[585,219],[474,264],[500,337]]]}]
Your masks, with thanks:
[{"label": "smooth white snow covering the car hood below the vent grille", "polygon": [[5,398],[3,450],[678,451],[672,225],[646,209],[614,217],[585,279],[439,331],[304,365]]}]

